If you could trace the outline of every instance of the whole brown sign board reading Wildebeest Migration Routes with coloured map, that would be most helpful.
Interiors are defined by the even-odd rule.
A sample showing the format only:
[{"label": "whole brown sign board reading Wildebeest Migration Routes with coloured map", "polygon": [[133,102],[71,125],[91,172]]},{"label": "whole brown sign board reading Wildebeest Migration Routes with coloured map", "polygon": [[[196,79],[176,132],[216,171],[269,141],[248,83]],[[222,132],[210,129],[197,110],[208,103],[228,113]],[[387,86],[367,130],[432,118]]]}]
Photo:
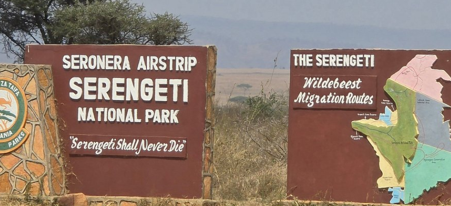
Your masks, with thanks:
[{"label": "whole brown sign board reading Wildebeest Migration Routes with coloured map", "polygon": [[291,50],[288,194],[449,200],[450,60],[450,50]]}]

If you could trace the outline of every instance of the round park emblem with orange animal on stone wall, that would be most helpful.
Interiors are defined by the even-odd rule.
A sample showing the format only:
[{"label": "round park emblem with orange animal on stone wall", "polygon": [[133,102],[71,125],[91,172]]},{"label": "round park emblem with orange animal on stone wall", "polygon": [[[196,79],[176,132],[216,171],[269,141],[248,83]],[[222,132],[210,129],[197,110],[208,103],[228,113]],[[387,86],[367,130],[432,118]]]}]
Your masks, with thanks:
[{"label": "round park emblem with orange animal on stone wall", "polygon": [[21,146],[30,135],[24,125],[27,101],[21,86],[12,79],[0,78],[0,154]]}]

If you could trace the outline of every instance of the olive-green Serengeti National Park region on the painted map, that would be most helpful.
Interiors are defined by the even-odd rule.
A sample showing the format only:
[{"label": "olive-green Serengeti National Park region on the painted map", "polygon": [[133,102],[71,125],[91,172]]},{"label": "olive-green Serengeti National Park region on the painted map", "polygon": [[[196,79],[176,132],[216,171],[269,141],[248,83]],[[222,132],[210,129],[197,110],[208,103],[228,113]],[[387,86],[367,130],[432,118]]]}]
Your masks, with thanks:
[{"label": "olive-green Serengeti National Park region on the painted map", "polygon": [[378,147],[381,154],[389,161],[398,182],[404,176],[404,159],[413,158],[417,145],[417,122],[413,115],[415,109],[415,92],[404,85],[387,80],[384,90],[396,103],[398,123],[390,126],[375,126],[374,120],[351,122],[352,128],[367,135]]}]

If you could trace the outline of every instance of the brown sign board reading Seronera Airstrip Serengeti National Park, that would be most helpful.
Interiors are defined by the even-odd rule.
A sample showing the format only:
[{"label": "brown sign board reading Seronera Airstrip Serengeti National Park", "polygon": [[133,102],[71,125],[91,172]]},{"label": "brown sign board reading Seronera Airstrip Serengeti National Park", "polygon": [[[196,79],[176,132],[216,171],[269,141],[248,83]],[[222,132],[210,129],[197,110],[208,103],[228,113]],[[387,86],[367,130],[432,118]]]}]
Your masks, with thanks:
[{"label": "brown sign board reading Seronera Airstrip Serengeti National Park", "polygon": [[25,62],[52,65],[71,192],[211,198],[214,46],[27,45]]}]

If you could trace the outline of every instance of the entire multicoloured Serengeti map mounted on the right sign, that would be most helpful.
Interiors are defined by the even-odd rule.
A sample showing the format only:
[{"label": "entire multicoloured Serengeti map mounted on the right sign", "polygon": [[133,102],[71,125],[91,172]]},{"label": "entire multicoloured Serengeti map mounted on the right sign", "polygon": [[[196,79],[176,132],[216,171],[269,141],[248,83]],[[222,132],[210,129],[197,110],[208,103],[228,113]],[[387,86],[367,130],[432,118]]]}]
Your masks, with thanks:
[{"label": "entire multicoloured Serengeti map mounted on the right sign", "polygon": [[[383,175],[377,184],[392,192],[390,203],[412,203],[451,178],[450,121],[442,113],[450,106],[443,103],[443,85],[437,81],[451,82],[451,77],[432,69],[436,60],[435,55],[416,55],[387,80],[384,90],[397,110],[386,106],[379,120],[351,122],[379,156]],[[386,181],[391,176],[396,180]]]}]

